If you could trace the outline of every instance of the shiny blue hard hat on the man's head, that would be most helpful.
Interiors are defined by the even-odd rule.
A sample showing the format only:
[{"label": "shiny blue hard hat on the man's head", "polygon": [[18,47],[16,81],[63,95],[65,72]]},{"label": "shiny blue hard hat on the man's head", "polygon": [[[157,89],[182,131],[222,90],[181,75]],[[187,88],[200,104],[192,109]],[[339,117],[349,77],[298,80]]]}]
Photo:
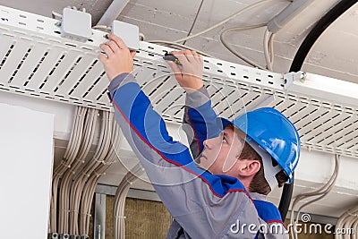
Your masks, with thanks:
[{"label": "shiny blue hard hat on the man's head", "polygon": [[223,129],[227,124],[246,133],[277,161],[292,182],[293,172],[300,157],[301,141],[294,124],[275,108],[263,107],[238,116],[234,121],[220,118]]}]

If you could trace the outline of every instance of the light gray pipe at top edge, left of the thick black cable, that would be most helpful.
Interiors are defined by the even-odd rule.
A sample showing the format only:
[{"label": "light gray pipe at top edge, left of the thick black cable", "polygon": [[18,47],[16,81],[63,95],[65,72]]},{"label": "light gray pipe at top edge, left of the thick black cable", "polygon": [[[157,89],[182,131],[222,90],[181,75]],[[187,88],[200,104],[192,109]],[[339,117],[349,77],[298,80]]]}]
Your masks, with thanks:
[{"label": "light gray pipe at top edge, left of the thick black cable", "polygon": [[288,21],[293,20],[297,14],[301,13],[313,1],[314,0],[294,0],[294,2],[289,4],[281,13],[278,13],[276,17],[268,21],[268,30],[272,33],[277,33]]}]

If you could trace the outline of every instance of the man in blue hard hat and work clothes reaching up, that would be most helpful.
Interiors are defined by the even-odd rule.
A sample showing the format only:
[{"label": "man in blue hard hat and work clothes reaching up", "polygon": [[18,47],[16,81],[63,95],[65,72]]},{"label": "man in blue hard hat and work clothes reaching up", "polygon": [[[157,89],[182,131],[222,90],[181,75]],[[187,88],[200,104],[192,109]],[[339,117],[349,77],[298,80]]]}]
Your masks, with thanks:
[{"label": "man in blue hard hat and work clothes reaching up", "polygon": [[[275,220],[277,217],[266,209],[272,208],[270,204],[256,204],[252,198],[258,188],[255,184],[260,184],[255,177],[261,170],[268,187],[273,188],[278,184],[274,180],[278,171],[283,170],[288,177],[292,175],[300,147],[293,124],[276,110],[264,108],[247,113],[234,122],[221,119],[219,123],[223,131],[217,135],[215,126],[216,130],[211,132],[209,127],[216,115],[209,98],[204,97],[202,81],[198,80],[202,59],[193,52],[178,53],[183,72],[176,72],[175,76],[182,87],[188,87],[187,101],[193,112],[188,115],[198,119],[192,122],[194,130],[202,127],[197,131],[203,135],[197,140],[200,147],[204,147],[198,167],[189,149],[168,135],[163,119],[152,109],[149,98],[131,74],[134,53],[121,38],[112,34],[109,38],[110,41],[100,46],[107,56],[98,55],[98,58],[111,81],[109,91],[116,121],[140,158],[160,199],[175,218],[167,238],[258,236],[258,231],[270,223],[269,218]],[[185,82],[195,83],[185,85]],[[253,126],[251,122],[254,122]],[[249,127],[246,124],[250,124]],[[265,218],[268,218],[267,222]],[[282,230],[276,235],[264,233],[267,237],[286,236]]]}]

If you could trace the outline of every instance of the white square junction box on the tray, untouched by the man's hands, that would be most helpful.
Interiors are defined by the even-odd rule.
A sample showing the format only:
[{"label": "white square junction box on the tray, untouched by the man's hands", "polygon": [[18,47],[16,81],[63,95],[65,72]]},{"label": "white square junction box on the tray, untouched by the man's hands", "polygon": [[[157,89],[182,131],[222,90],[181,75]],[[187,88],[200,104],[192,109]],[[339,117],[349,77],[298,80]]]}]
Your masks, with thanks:
[{"label": "white square junction box on the tray, untouched by the man's hands", "polygon": [[61,22],[61,36],[86,42],[92,36],[90,13],[64,8]]}]

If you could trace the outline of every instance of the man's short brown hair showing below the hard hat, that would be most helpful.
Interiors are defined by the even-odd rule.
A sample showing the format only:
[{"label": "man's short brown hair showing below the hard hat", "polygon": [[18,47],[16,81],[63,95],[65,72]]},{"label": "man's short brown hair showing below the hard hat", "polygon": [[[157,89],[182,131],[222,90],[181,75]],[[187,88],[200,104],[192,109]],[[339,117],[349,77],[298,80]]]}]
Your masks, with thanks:
[{"label": "man's short brown hair showing below the hard hat", "polygon": [[[243,145],[243,151],[241,152],[239,158],[258,160],[260,162],[260,170],[253,176],[248,190],[250,192],[258,192],[260,194],[268,195],[268,193],[271,192],[271,188],[268,185],[268,181],[265,179],[262,158],[246,141]],[[272,165],[277,166],[277,162],[272,160]],[[284,170],[281,170],[277,173],[276,179],[278,187],[282,187],[286,183],[288,177]]]}]

